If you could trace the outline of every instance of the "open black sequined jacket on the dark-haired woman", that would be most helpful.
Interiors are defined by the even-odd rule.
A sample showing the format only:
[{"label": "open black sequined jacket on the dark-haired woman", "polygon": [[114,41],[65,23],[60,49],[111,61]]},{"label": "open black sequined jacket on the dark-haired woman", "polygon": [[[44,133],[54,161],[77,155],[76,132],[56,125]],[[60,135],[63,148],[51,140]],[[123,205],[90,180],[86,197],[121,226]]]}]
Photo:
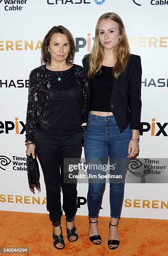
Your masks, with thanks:
[{"label": "open black sequined jacket on the dark-haired woman", "polygon": [[[86,79],[84,68],[74,65],[74,78],[81,89],[82,123],[86,122]],[[46,74],[46,65],[33,69],[29,77],[29,93],[26,117],[26,141],[34,141],[35,128],[50,131],[49,89],[51,77]],[[81,125],[82,125],[81,123]],[[83,126],[82,126],[82,130]],[[84,131],[83,131],[84,132]]]}]

